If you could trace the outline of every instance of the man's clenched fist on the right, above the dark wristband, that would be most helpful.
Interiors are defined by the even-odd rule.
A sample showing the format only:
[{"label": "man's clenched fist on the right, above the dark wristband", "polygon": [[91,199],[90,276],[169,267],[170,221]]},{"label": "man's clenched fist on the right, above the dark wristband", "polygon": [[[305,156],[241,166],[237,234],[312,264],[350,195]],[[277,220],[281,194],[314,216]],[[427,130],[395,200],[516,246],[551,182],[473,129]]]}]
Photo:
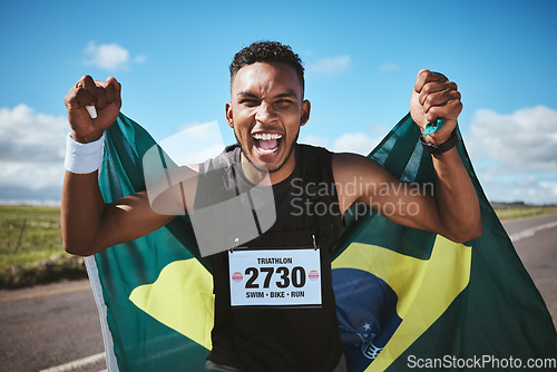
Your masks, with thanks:
[{"label": "man's clenched fist on the right, above the dark wristband", "polygon": [[416,78],[414,89],[410,99],[410,114],[412,119],[426,129],[429,121],[444,118],[444,125],[436,133],[424,136],[432,144],[447,141],[457,126],[457,118],[462,111],[460,92],[457,85],[449,81],[442,74],[422,69]]}]

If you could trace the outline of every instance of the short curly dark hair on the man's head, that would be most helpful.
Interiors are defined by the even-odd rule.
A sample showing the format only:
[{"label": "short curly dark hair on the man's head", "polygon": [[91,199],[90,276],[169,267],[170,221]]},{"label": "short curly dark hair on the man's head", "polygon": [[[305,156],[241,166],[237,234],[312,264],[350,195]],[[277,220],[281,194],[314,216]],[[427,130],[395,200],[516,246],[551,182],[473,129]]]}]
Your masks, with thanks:
[{"label": "short curly dark hair on the man's head", "polygon": [[231,63],[231,84],[238,70],[255,62],[281,62],[293,67],[296,70],[302,97],[304,95],[304,67],[300,56],[292,51],[290,46],[278,41],[256,41],[238,51]]}]

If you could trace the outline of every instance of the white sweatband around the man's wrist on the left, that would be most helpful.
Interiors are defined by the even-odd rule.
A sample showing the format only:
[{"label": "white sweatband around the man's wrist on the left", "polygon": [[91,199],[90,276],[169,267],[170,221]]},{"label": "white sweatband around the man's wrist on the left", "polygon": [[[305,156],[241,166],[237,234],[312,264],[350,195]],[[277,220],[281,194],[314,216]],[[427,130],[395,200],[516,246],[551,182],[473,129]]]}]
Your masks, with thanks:
[{"label": "white sweatband around the man's wrist on the left", "polygon": [[102,164],[104,148],[105,133],[102,133],[99,139],[87,144],[76,141],[68,134],[66,138],[66,160],[63,165],[67,170],[78,175],[94,173],[100,168]]}]

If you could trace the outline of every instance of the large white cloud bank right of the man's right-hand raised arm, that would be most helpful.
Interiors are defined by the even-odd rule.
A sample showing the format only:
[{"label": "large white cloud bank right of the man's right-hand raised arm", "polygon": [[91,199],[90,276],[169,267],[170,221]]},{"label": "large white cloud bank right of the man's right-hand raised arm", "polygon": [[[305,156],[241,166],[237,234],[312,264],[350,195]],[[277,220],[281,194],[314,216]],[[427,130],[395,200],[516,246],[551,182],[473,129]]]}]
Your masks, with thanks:
[{"label": "large white cloud bank right of the man's right-hand raised arm", "polygon": [[465,136],[488,199],[557,203],[557,111],[481,109]]}]

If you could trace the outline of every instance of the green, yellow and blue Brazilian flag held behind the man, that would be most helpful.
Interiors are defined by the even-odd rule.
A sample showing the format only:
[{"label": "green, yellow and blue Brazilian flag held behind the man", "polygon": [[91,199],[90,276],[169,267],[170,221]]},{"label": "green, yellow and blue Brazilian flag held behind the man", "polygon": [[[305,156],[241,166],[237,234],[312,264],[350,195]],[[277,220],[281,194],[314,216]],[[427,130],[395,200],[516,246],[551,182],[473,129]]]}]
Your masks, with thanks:
[{"label": "green, yellow and blue Brazilian flag held behind the man", "polygon": [[[402,180],[432,183],[431,156],[418,138],[408,115],[369,156]],[[99,176],[107,203],[145,189],[143,155],[154,145],[120,114],[107,130]],[[546,305],[462,143],[458,150],[480,200],[481,237],[457,244],[362,205],[346,213],[332,267],[350,372],[520,370],[530,359],[557,358]],[[86,265],[109,371],[204,371],[213,284],[187,216],[87,257]]]}]

